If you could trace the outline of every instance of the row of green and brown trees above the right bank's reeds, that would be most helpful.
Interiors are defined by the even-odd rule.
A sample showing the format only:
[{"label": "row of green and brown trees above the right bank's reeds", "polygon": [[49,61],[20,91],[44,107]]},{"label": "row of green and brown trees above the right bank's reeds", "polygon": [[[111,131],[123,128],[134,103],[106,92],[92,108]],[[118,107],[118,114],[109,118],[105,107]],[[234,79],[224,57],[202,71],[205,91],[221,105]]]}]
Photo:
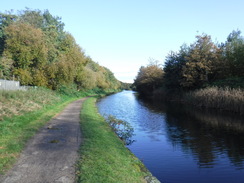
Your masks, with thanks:
[{"label": "row of green and brown trees above the right bank's reeds", "polygon": [[233,31],[224,43],[207,34],[197,35],[189,46],[170,52],[164,65],[142,66],[133,86],[143,95],[179,94],[207,86],[244,87],[244,38]]}]

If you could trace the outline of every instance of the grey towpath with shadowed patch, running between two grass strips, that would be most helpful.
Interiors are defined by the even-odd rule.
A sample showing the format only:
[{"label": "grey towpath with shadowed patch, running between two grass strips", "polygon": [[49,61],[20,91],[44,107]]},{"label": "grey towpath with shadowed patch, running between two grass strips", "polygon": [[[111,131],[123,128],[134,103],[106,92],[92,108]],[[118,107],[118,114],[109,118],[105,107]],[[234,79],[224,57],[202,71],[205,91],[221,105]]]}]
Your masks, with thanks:
[{"label": "grey towpath with shadowed patch, running between two grass strips", "polygon": [[69,104],[30,140],[2,183],[73,183],[81,143],[80,99]]}]

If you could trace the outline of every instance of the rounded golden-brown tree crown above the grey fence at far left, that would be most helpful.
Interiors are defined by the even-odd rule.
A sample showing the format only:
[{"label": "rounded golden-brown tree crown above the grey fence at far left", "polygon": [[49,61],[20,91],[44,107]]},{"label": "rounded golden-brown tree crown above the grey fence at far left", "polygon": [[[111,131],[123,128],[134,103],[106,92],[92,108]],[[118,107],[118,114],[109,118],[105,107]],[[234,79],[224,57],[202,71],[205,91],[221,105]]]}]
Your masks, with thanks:
[{"label": "rounded golden-brown tree crown above the grey fence at far left", "polygon": [[12,23],[5,28],[4,55],[14,61],[14,67],[42,67],[47,62],[43,32],[25,23]]}]

